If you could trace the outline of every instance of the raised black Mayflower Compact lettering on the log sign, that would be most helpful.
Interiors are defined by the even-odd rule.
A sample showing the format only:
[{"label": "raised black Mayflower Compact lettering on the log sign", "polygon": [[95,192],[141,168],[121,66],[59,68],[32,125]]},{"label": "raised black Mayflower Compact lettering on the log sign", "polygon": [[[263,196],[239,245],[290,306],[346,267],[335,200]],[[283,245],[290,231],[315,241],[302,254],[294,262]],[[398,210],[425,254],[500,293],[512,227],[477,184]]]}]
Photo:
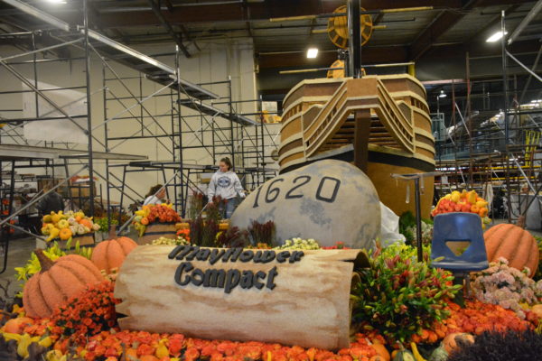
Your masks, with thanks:
[{"label": "raised black Mayflower Compact lettering on the log sign", "polygon": [[276,287],[275,277],[278,274],[276,266],[271,268],[268,273],[263,271],[253,272],[251,270],[240,271],[235,268],[224,270],[220,268],[201,268],[194,267],[192,261],[194,259],[203,262],[209,262],[212,266],[220,260],[223,263],[248,263],[267,264],[276,261],[279,264],[288,262],[293,264],[301,261],[304,256],[303,251],[282,251],[276,254],[275,251],[252,251],[244,250],[243,248],[229,249],[210,249],[193,245],[178,245],[167,256],[170,260],[183,261],[175,271],[175,283],[184,287],[188,284],[193,284],[197,287],[214,287],[223,288],[224,292],[229,293],[236,287],[242,289],[256,288],[261,290],[266,287],[273,290]]}]

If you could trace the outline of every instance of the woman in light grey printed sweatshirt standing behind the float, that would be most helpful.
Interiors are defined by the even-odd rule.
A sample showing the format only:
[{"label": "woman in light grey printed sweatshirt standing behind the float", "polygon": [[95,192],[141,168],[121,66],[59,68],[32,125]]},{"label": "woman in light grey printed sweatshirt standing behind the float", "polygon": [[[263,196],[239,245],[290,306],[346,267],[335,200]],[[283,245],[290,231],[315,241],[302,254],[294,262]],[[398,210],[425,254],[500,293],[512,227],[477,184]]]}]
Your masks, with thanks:
[{"label": "woman in light grey printed sweatshirt standing behind the float", "polygon": [[226,219],[231,218],[233,211],[237,208],[238,196],[245,198],[241,181],[238,175],[231,170],[231,161],[228,157],[220,160],[219,171],[210,178],[207,196],[209,197],[209,203],[212,203],[213,197],[227,200],[225,209],[220,209],[223,218]]}]

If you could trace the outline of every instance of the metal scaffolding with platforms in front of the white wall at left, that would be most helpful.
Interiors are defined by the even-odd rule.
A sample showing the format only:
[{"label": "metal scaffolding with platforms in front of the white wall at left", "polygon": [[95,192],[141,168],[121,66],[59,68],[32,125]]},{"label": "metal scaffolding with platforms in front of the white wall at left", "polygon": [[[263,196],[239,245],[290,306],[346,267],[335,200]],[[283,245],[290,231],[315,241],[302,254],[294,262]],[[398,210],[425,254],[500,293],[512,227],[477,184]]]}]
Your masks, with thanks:
[{"label": "metal scaffolding with platforms in front of the white wall at left", "polygon": [[[83,24],[74,25],[65,23],[42,10],[25,4],[19,0],[2,0],[5,4],[22,11],[25,14],[32,15],[36,21],[41,22],[42,28],[47,29],[47,36],[55,43],[51,46],[42,48],[36,47],[35,36],[37,32],[18,32],[16,34],[2,34],[0,36],[16,36],[30,39],[32,49],[23,53],[10,55],[0,58],[0,66],[11,73],[16,79],[19,79],[24,87],[23,90],[5,91],[3,96],[19,93],[33,94],[35,100],[35,114],[33,116],[4,116],[0,122],[4,125],[0,130],[0,167],[9,168],[11,172],[5,171],[4,176],[8,179],[15,177],[15,161],[10,157],[16,153],[20,168],[41,167],[45,169],[45,175],[48,178],[61,178],[68,180],[70,167],[84,165],[83,170],[89,172],[89,215],[95,214],[96,188],[95,178],[105,181],[106,201],[103,201],[102,192],[99,193],[99,202],[106,204],[107,218],[111,224],[111,214],[113,210],[123,212],[124,201],[129,199],[132,202],[141,200],[142,195],[138,194],[126,182],[126,174],[130,171],[160,171],[163,174],[164,181],[167,178],[167,171],[173,171],[175,180],[168,184],[171,189],[170,197],[175,203],[176,209],[184,214],[186,209],[186,199],[189,196],[189,190],[197,189],[194,176],[204,171],[214,171],[214,164],[220,157],[229,155],[235,163],[241,179],[248,190],[252,190],[266,179],[275,175],[275,170],[267,167],[273,162],[271,156],[266,150],[271,147],[276,149],[276,135],[271,134],[267,125],[261,121],[254,121],[250,116],[261,116],[259,111],[251,114],[239,114],[237,104],[241,101],[233,101],[231,94],[231,79],[222,82],[194,84],[181,78],[179,57],[180,50],[177,47],[175,51],[175,66],[170,67],[161,61],[146,56],[143,53],[135,51],[125,45],[115,42],[102,34],[89,29],[88,25],[88,0],[84,1],[83,6]],[[55,59],[40,59],[39,54],[51,51],[61,51],[64,48],[76,49],[79,51],[77,56],[58,56]],[[20,60],[20,58],[32,56],[31,60]],[[102,63],[103,84],[101,88],[90,89],[90,60],[96,58]],[[43,88],[40,85],[39,68],[51,62],[58,61],[82,61],[84,65],[84,79],[80,84],[69,87]],[[141,85],[139,91],[126,86],[126,78],[118,75],[113,63],[120,63],[130,69],[135,70],[135,79]],[[32,66],[32,74],[25,75],[23,71],[17,69],[18,66]],[[144,82],[150,82],[160,87],[158,90],[145,94]],[[112,86],[116,83],[116,87]],[[220,97],[212,91],[203,88],[209,85],[222,84],[226,87],[226,95]],[[114,88],[123,88],[127,94],[118,94]],[[80,91],[81,97],[76,101],[85,104],[85,111],[78,114],[72,114],[70,106],[72,104],[61,104],[55,100],[54,94],[66,90]],[[92,114],[92,98],[101,93],[104,101],[104,121],[99,124],[93,124],[92,120],[96,115]],[[157,114],[149,109],[146,104],[150,99],[157,97],[167,98],[168,106],[164,108],[163,114]],[[250,100],[260,104],[261,99]],[[52,110],[41,111],[40,102],[46,104]],[[204,103],[207,102],[207,103]],[[210,104],[208,104],[210,102]],[[108,106],[111,103],[120,105],[122,110],[115,114],[109,114]],[[224,108],[224,105],[226,108]],[[190,111],[187,113],[186,109]],[[4,112],[14,110],[20,112],[21,109],[2,109]],[[96,111],[96,108],[94,108]],[[199,128],[193,126],[192,120],[197,118],[200,122]],[[151,119],[155,127],[145,125],[145,121]],[[227,125],[220,124],[217,119],[222,119]],[[82,148],[77,144],[70,143],[70,140],[48,142],[29,142],[24,137],[24,125],[31,122],[42,122],[46,120],[62,120],[76,126],[87,139],[87,146]],[[108,131],[109,125],[113,122],[123,120],[128,122],[135,121],[138,124],[136,134],[123,134],[115,136]],[[164,121],[168,123],[164,126]],[[123,122],[123,123],[124,123]],[[96,136],[103,127],[104,138],[98,139]],[[129,128],[129,127],[127,127]],[[200,136],[201,134],[201,136]],[[188,138],[195,137],[198,143],[187,145]],[[163,147],[168,156],[163,161],[147,161],[145,156],[131,156],[116,152],[120,143],[125,143],[134,139],[154,139],[155,143]],[[18,148],[9,148],[15,146]],[[96,149],[95,149],[96,148]],[[200,149],[201,152],[210,153],[212,164],[191,164],[185,162],[185,153],[190,149]],[[98,150],[98,152],[97,152]],[[101,159],[106,164],[105,172],[97,171],[93,160]],[[23,162],[20,164],[20,162]],[[123,163],[113,163],[125,161]],[[28,167],[24,167],[28,165]],[[59,167],[61,171],[59,171]],[[115,169],[121,169],[122,174],[116,174]],[[56,170],[56,171],[55,171]],[[77,174],[75,174],[77,175]],[[7,184],[6,184],[7,185]],[[3,186],[4,187],[4,186]],[[5,195],[13,200],[14,181],[9,184],[10,191]],[[71,187],[68,187],[70,190]],[[121,201],[118,204],[112,202],[112,192],[119,193]],[[79,191],[79,195],[80,195]],[[11,195],[10,195],[11,194]],[[42,195],[36,195],[41,197]],[[79,197],[80,198],[80,197]],[[72,199],[70,195],[70,199]],[[31,199],[35,201],[36,199]],[[73,201],[71,202],[74,203]],[[83,203],[79,199],[79,206]],[[12,204],[12,203],[10,203]],[[4,223],[5,219],[12,218],[14,215],[11,206],[8,209],[5,218],[1,220],[3,225],[14,228],[14,225]],[[31,232],[33,236],[37,236]],[[2,233],[2,241],[7,244],[9,234]],[[6,253],[5,253],[6,255]]]}]

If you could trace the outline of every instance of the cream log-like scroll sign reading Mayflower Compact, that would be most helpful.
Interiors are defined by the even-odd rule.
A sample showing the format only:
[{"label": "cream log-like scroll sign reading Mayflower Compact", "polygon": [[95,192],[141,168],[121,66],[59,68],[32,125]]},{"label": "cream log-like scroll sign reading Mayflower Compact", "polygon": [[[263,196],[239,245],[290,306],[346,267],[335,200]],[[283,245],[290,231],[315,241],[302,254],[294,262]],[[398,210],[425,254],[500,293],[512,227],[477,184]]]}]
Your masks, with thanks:
[{"label": "cream log-like scroll sign reading Mayflower Compact", "polygon": [[337,349],[350,344],[360,250],[140,245],[115,282],[121,329]]}]

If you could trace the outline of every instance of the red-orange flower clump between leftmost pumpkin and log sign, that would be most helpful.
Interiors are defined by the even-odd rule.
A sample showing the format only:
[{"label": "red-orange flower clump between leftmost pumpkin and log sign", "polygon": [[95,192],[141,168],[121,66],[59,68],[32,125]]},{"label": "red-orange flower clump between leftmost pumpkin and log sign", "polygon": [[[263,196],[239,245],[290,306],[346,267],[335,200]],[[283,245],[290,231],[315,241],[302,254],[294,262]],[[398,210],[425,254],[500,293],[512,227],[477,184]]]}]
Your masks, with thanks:
[{"label": "red-orange flower clump between leftmost pumpkin and log sign", "polygon": [[71,298],[52,315],[53,332],[82,344],[88,336],[115,327],[115,305],[120,301],[113,297],[114,288],[114,283],[104,281]]}]

